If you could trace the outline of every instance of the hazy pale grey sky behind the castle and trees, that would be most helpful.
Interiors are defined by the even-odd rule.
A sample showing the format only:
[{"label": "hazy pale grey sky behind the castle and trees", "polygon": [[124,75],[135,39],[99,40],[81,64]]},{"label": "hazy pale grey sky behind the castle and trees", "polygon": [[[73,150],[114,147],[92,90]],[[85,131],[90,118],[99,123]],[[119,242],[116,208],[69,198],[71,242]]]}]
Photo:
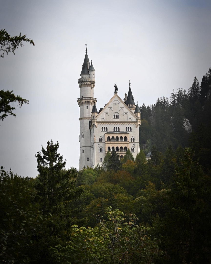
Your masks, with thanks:
[{"label": "hazy pale grey sky behind the castle and trees", "polygon": [[[0,58],[1,89],[30,101],[0,121],[0,165],[37,175],[35,154],[59,141],[66,168],[79,164],[78,78],[88,44],[94,97],[104,107],[129,80],[138,105],[199,83],[211,67],[210,1],[1,1],[0,25],[33,39]],[[15,104],[16,106],[16,104]]]}]

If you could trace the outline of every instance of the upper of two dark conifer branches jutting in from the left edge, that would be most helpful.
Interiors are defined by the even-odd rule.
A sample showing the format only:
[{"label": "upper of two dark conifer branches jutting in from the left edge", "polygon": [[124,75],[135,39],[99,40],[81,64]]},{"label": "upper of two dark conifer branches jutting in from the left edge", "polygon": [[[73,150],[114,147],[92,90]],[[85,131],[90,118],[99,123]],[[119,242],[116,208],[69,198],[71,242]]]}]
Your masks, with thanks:
[{"label": "upper of two dark conifer branches jutting in from the left edge", "polygon": [[29,42],[33,46],[35,45],[32,39],[27,39],[26,35],[11,37],[5,29],[0,30],[0,57],[4,58],[4,53],[6,52],[7,55],[9,52],[12,51],[13,54],[18,46],[23,46],[23,42]]}]

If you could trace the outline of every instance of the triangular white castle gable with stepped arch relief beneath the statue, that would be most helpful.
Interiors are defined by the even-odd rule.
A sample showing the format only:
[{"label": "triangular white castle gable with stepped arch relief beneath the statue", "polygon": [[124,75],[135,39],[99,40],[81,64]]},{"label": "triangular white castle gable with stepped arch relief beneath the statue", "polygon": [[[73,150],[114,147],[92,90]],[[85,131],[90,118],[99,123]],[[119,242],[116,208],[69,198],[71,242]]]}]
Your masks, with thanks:
[{"label": "triangular white castle gable with stepped arch relief beneath the statue", "polygon": [[97,121],[133,122],[136,121],[136,116],[117,95],[117,93],[115,93],[103,110],[98,114]]}]

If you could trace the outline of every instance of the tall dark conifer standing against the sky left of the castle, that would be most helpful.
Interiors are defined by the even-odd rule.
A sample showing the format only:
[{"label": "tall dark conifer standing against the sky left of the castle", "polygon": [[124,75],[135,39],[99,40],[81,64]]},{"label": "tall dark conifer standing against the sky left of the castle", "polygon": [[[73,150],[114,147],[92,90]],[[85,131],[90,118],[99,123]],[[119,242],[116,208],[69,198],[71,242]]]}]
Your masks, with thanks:
[{"label": "tall dark conifer standing against the sky left of the castle", "polygon": [[37,171],[35,188],[37,190],[36,200],[42,206],[42,213],[54,213],[57,205],[62,202],[75,200],[82,192],[81,187],[75,187],[77,170],[65,169],[66,160],[57,153],[58,141],[54,144],[47,142],[46,150],[42,146],[42,153],[37,152]]}]

